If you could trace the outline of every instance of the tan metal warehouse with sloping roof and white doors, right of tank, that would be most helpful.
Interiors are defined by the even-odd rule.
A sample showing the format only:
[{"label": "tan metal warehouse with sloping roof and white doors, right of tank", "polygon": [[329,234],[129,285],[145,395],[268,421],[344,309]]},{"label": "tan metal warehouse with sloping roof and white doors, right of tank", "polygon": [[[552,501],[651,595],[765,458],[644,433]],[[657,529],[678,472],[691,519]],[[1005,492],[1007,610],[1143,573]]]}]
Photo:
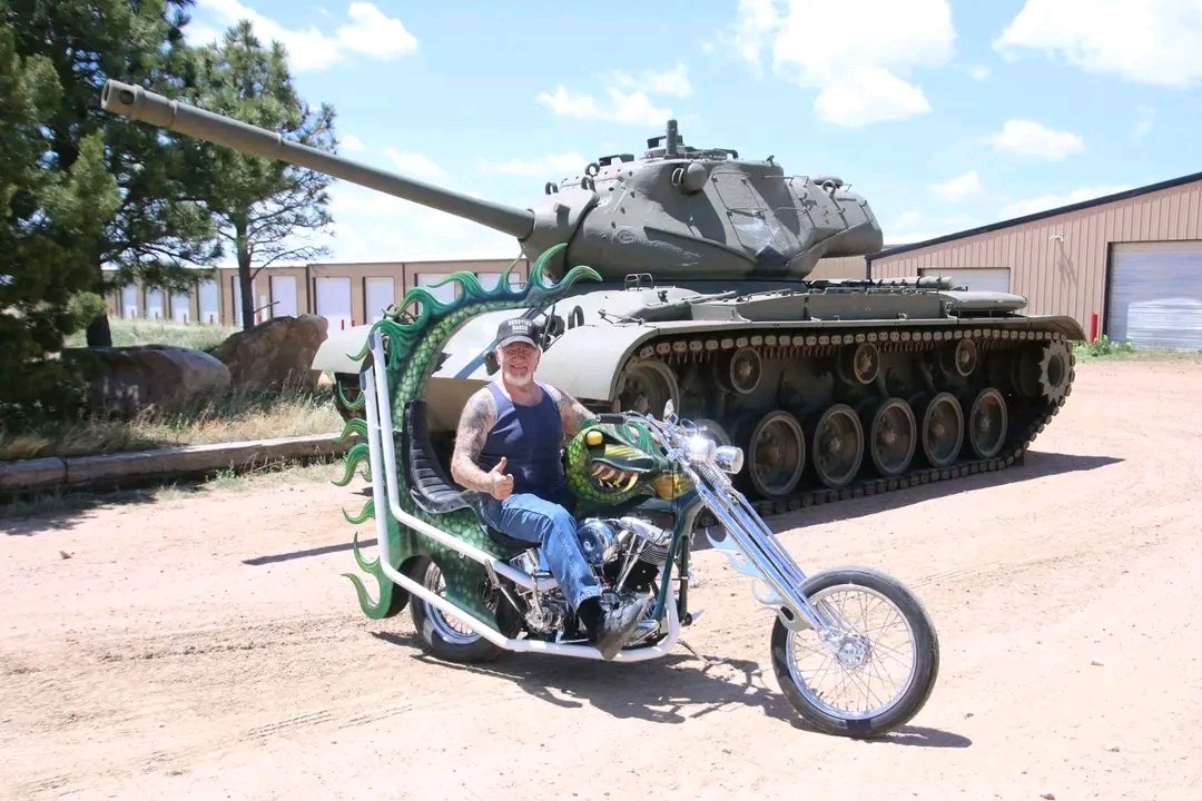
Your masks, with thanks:
[{"label": "tan metal warehouse with sloping roof and white doors, right of tank", "polygon": [[889,247],[868,270],[947,275],[1023,295],[1024,313],[1071,315],[1090,335],[1202,348],[1202,173]]}]

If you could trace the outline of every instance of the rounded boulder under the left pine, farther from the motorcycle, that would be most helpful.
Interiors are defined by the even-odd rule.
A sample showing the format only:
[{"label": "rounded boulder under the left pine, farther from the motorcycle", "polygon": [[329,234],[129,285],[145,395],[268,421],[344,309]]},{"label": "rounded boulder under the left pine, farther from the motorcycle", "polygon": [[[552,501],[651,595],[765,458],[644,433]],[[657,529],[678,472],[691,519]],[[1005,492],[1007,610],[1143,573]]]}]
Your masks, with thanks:
[{"label": "rounded boulder under the left pine, farther from the motorcycle", "polygon": [[94,412],[131,417],[139,411],[208,400],[230,388],[230,370],[219,359],[172,345],[70,348],[64,359],[91,364],[88,397]]}]

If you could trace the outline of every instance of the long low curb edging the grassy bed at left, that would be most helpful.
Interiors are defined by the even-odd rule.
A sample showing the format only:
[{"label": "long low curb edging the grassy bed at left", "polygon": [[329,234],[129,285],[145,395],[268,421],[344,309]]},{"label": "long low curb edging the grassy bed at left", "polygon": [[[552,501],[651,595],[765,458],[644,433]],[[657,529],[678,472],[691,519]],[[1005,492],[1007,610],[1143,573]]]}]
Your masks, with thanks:
[{"label": "long low curb edging the grassy bed at left", "polygon": [[310,461],[346,453],[352,442],[337,434],[305,437],[220,442],[102,456],[52,456],[0,462],[0,496],[61,490],[131,489],[149,484],[214,476],[224,470],[244,473],[285,461]]}]

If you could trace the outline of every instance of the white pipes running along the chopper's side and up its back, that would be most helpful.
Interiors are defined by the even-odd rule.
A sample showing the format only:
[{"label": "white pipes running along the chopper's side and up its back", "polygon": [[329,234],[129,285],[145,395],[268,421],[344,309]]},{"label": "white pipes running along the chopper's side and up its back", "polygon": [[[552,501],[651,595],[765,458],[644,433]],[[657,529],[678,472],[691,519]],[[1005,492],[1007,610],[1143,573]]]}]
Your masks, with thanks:
[{"label": "white pipes running along the chopper's side and up its back", "polygon": [[[417,581],[413,581],[407,575],[392,567],[392,554],[388,550],[388,521],[379,512],[385,508],[387,508],[403,526],[415,528],[432,539],[435,539],[439,543],[442,543],[444,545],[483,563],[486,567],[490,566],[492,569],[501,573],[506,578],[511,578],[516,584],[535,588],[534,579],[531,579],[529,574],[514,569],[512,566],[496,560],[477,548],[468,545],[458,538],[446,533],[441,528],[432,526],[424,520],[415,518],[400,508],[397,489],[397,459],[395,444],[393,442],[392,401],[388,397],[387,376],[383,370],[376,369],[377,365],[385,364],[383,347],[379,330],[373,330],[368,335],[368,343],[371,353],[371,366],[362,373],[362,381],[367,384],[363,387],[363,400],[368,424],[368,453],[371,465],[371,496],[375,500],[376,508],[376,549],[379,551],[377,556],[380,560],[380,568],[385,576],[387,576],[393,584],[400,585],[407,590],[415,597],[421,598],[433,606],[436,606],[440,611],[462,621],[464,626],[468,626],[489,642],[507,651],[549,653],[554,656],[577,657],[583,659],[603,658],[601,652],[591,645],[563,645],[559,642],[546,642],[542,640],[520,640],[507,638],[494,627],[474,617],[470,612],[456,606],[446,598],[430,592]],[[375,387],[375,391],[369,391],[373,384]],[[548,586],[551,586],[548,582],[540,581],[537,588],[542,590]],[[680,620],[677,614],[676,604],[670,603],[666,604],[666,606],[668,630],[665,639],[656,645],[638,648],[637,651],[620,651],[613,658],[614,662],[645,662],[648,659],[656,659],[659,657],[667,656],[667,653],[676,645],[677,639],[680,636]]]}]

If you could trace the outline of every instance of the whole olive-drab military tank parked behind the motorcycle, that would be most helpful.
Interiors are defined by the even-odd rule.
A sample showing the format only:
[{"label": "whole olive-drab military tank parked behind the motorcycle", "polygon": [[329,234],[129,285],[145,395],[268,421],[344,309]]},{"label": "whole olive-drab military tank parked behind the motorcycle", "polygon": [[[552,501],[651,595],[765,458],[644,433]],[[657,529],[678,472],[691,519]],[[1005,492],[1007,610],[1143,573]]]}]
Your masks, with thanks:
[{"label": "whole olive-drab military tank parked behind the motorcycle", "polygon": [[[507,233],[554,274],[599,283],[524,313],[542,331],[542,379],[595,411],[659,413],[672,400],[722,443],[761,513],[948,480],[1020,461],[1072,389],[1067,316],[950,279],[809,280],[821,258],[880,251],[868,202],[834,175],[787,175],[772,156],[684,143],[676,121],[644,153],[611,154],[513,208],[285,141],[275,132],[109,80],[105,109],[322,172]],[[489,379],[500,318],[465,323],[427,408],[447,456],[466,397]],[[357,385],[369,327],[335,331],[314,367]]]}]

